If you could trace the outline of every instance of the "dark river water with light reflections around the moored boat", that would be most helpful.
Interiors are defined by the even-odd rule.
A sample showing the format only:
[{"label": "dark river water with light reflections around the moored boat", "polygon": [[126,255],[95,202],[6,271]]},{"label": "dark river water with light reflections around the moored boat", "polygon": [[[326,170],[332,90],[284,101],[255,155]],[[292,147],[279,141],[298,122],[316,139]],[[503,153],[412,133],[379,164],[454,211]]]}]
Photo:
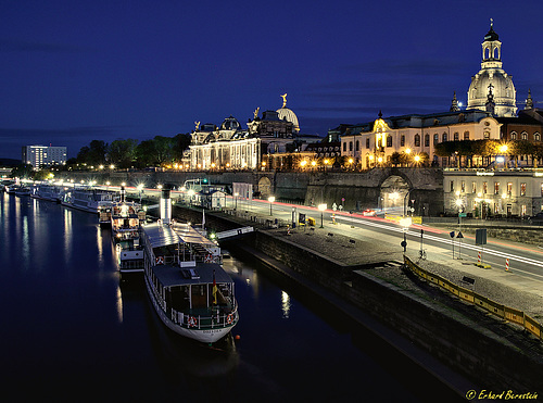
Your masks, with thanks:
[{"label": "dark river water with light reflections around the moored boat", "polygon": [[326,304],[231,259],[230,353],[175,337],[119,281],[92,214],[0,193],[1,401],[419,402],[443,388]]}]

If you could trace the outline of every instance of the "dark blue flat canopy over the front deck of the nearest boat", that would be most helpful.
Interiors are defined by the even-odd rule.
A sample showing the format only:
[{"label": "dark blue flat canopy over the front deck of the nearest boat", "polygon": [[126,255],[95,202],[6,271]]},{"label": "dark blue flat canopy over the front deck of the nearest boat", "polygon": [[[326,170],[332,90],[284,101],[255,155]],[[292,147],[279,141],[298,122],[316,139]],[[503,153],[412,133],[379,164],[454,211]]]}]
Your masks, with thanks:
[{"label": "dark blue flat canopy over the front deck of the nearest boat", "polygon": [[197,263],[192,268],[200,277],[198,279],[186,278],[181,274],[181,268],[171,265],[154,266],[153,274],[164,287],[200,285],[213,282],[213,270],[215,270],[216,282],[232,282],[232,279],[218,263]]}]

